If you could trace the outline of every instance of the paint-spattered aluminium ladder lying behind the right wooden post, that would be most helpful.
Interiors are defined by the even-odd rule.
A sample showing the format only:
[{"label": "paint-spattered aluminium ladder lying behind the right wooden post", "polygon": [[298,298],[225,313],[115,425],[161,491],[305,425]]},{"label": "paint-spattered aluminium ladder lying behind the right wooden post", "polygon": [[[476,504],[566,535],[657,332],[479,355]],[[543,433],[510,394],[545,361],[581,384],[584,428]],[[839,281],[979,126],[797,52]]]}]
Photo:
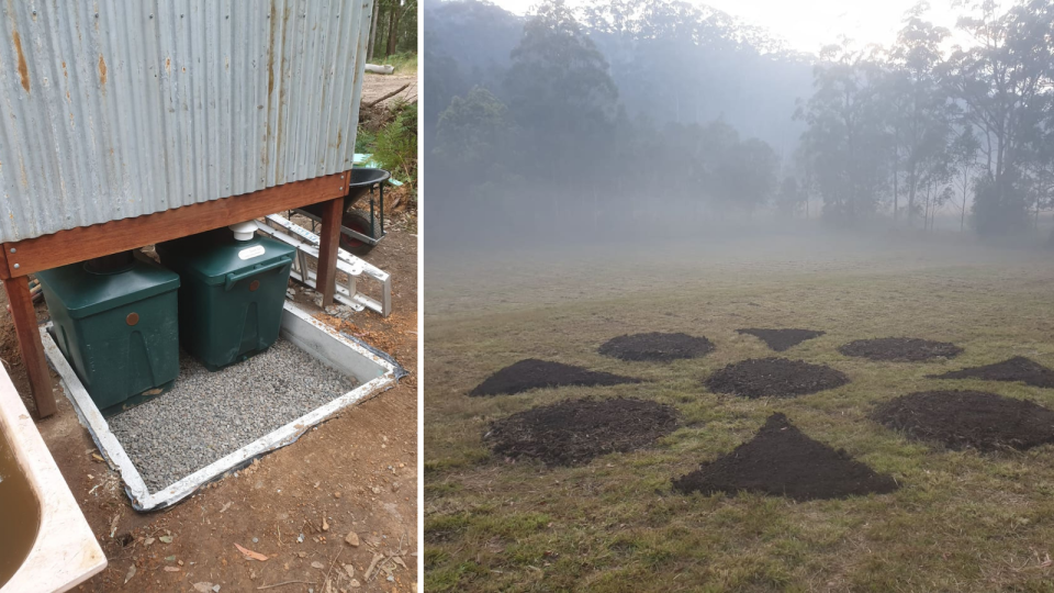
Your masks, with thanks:
[{"label": "paint-spattered aluminium ladder lying behind the right wooden post", "polygon": [[[296,257],[293,258],[293,268],[290,276],[294,280],[317,290],[316,275],[311,269],[310,262],[314,261],[317,269],[318,235],[278,214],[268,215],[267,223],[256,221],[256,225],[261,233],[296,248]],[[350,306],[355,311],[369,309],[384,317],[392,314],[392,277],[390,273],[340,248],[337,249],[337,271],[347,277],[347,282],[341,283],[340,277],[337,275],[337,291],[334,294],[334,300]],[[358,291],[358,279],[360,277],[371,278],[380,283],[380,301]]]}]

